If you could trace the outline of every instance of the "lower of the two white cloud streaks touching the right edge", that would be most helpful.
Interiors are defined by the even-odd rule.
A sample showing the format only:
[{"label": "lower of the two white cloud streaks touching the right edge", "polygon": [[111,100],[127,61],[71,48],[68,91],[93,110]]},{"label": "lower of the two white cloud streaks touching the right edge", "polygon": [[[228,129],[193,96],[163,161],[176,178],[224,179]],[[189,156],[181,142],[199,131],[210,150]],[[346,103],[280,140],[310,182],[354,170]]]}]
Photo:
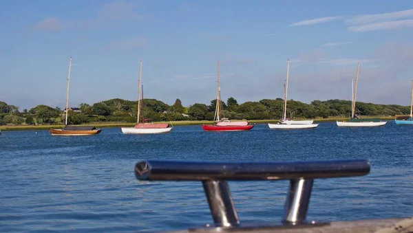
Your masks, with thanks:
[{"label": "lower of the two white cloud streaks touching the right edge", "polygon": [[405,27],[413,27],[413,19],[355,25],[348,27],[348,30],[352,32],[370,32],[377,30],[394,30]]}]

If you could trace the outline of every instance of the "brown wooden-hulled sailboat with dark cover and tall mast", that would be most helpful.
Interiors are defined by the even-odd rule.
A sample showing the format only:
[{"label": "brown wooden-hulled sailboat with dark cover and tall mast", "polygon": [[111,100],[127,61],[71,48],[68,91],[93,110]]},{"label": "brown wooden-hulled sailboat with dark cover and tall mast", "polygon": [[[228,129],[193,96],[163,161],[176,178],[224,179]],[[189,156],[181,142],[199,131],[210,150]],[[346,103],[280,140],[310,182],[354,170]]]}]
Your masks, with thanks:
[{"label": "brown wooden-hulled sailboat with dark cover and tall mast", "polygon": [[69,76],[67,77],[67,93],[66,93],[66,107],[65,107],[65,126],[63,129],[50,129],[52,135],[61,136],[85,136],[85,135],[96,135],[102,130],[96,128],[95,126],[80,126],[80,125],[67,125],[67,107],[69,106],[69,86],[70,86],[70,70],[72,69],[72,57],[69,61]]}]

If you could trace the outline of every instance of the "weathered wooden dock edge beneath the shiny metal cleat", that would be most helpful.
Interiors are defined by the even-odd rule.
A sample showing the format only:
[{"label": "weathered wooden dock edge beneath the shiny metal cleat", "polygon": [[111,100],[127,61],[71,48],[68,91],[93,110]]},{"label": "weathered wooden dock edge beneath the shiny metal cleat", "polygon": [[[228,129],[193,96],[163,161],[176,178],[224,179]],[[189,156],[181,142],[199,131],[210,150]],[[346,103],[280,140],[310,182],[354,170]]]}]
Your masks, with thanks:
[{"label": "weathered wooden dock edge beneath the shiny metal cleat", "polygon": [[[213,230],[182,230],[169,233],[214,232]],[[226,231],[223,231],[226,232]],[[361,221],[337,221],[330,225],[310,228],[265,228],[256,230],[229,230],[231,233],[407,233],[413,232],[413,219],[374,219]]]}]

